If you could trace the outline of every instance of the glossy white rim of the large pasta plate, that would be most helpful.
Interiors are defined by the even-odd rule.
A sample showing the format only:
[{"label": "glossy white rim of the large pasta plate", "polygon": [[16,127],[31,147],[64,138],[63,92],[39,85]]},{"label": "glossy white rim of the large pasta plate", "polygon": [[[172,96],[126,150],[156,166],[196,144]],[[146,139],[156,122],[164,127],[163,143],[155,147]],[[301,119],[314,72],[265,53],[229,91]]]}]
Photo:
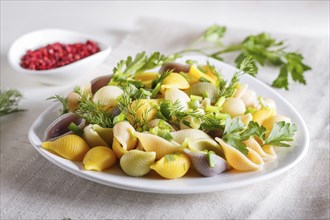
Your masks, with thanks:
[{"label": "glossy white rim of the large pasta plate", "polygon": [[[224,63],[222,61],[219,60],[215,60],[206,56],[200,56],[200,55],[187,55],[187,56],[183,56],[180,59],[189,59],[189,58],[195,58],[195,59],[199,59],[199,60],[212,60],[213,62],[218,62],[219,65],[221,66],[226,66],[226,68],[232,69],[233,71],[237,71],[237,68],[235,68],[234,66],[231,66],[227,63]],[[180,60],[178,59],[178,60]],[[264,82],[260,81],[259,79],[256,79],[250,75],[246,75],[246,77],[249,77],[249,80],[254,80],[257,83],[261,84],[263,87],[266,87],[266,89],[271,90],[272,94],[277,96],[278,99],[280,99],[282,102],[284,102],[284,104],[296,115],[296,117],[299,119],[300,124],[302,125],[301,131],[304,134],[303,138],[303,146],[299,146],[300,148],[302,148],[302,151],[300,152],[300,154],[288,165],[284,166],[284,167],[280,167],[280,168],[276,168],[275,170],[271,170],[269,173],[265,173],[263,175],[260,176],[254,176],[251,178],[248,178],[246,180],[238,180],[237,182],[230,182],[230,183],[222,183],[219,185],[212,185],[212,186],[194,186],[194,188],[184,188],[184,187],[177,187],[177,188],[150,188],[150,187],[144,187],[144,186],[138,186],[138,185],[130,185],[130,184],[125,184],[125,183],[121,183],[118,184],[114,181],[111,181],[111,179],[109,178],[108,180],[104,180],[102,178],[100,178],[99,176],[92,176],[90,175],[90,173],[87,171],[84,172],[79,172],[77,170],[74,170],[70,167],[68,167],[67,165],[61,163],[60,161],[57,161],[55,159],[53,159],[50,155],[49,152],[46,152],[44,149],[42,149],[38,144],[36,144],[33,140],[34,136],[39,138],[38,135],[34,132],[34,128],[38,125],[38,123],[40,122],[40,120],[43,118],[43,116],[46,116],[49,111],[54,108],[56,105],[58,105],[58,103],[53,103],[52,105],[50,105],[46,110],[44,110],[36,119],[35,121],[32,123],[29,132],[28,132],[28,138],[30,143],[33,145],[33,147],[38,151],[38,153],[40,153],[44,158],[46,158],[48,161],[52,162],[53,164],[55,164],[56,166],[74,174],[77,175],[79,177],[82,177],[84,179],[93,181],[93,182],[97,182],[103,185],[107,185],[107,186],[112,186],[115,188],[120,188],[120,189],[125,189],[125,190],[132,190],[132,191],[139,191],[139,192],[149,192],[149,193],[164,193],[164,194],[195,194],[195,193],[207,193],[207,192],[216,192],[216,191],[224,191],[224,190],[229,190],[229,189],[234,189],[234,188],[239,188],[242,186],[248,186],[248,185],[252,185],[254,183],[257,182],[261,182],[267,179],[271,179],[274,178],[282,173],[285,173],[286,171],[292,169],[294,166],[296,166],[301,160],[302,158],[307,154],[308,152],[308,148],[309,148],[309,144],[310,144],[310,136],[309,136],[309,132],[308,132],[308,128],[307,125],[305,123],[305,121],[303,120],[302,116],[299,114],[299,112],[278,92],[276,92],[273,88],[271,88],[270,86],[268,86],[267,84],[265,84]],[[40,138],[39,138],[40,139]],[[41,140],[40,140],[41,141]],[[56,155],[52,155],[52,156],[56,156]],[[133,177],[132,177],[133,178]],[[205,178],[205,177],[201,177],[201,178]],[[207,179],[207,178],[205,178]],[[165,180],[165,181],[172,181],[172,180]]]}]

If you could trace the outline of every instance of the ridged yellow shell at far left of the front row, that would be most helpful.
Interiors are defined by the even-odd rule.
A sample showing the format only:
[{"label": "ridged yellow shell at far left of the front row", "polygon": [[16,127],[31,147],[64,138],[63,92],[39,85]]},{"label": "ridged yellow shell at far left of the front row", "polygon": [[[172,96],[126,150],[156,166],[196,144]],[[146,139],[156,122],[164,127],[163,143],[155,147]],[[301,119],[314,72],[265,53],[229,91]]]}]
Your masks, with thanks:
[{"label": "ridged yellow shell at far left of the front row", "polygon": [[60,137],[55,141],[43,142],[41,146],[50,152],[73,161],[82,161],[89,150],[85,140],[74,134]]}]

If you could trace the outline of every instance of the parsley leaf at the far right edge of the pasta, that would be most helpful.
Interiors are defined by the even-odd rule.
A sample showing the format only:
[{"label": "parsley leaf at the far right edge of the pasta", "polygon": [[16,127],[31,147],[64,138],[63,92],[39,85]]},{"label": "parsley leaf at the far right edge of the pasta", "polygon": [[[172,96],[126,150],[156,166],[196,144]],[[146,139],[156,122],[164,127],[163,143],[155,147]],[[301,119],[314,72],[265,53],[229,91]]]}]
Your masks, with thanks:
[{"label": "parsley leaf at the far right edge of the pasta", "polygon": [[297,126],[295,124],[286,123],[284,121],[277,122],[264,144],[271,144],[278,147],[289,147],[290,145],[285,142],[293,141],[293,136],[296,131]]}]

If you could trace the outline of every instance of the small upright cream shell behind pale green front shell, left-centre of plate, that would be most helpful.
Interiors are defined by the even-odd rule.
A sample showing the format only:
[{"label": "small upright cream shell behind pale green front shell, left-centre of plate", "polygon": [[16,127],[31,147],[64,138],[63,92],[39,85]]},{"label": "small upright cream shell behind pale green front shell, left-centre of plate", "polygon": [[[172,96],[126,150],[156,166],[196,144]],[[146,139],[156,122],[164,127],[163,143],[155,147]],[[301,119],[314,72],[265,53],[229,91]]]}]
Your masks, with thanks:
[{"label": "small upright cream shell behind pale green front shell, left-centre of plate", "polygon": [[135,129],[127,121],[119,122],[113,127],[113,136],[124,150],[132,150],[136,147],[137,138],[134,133]]}]

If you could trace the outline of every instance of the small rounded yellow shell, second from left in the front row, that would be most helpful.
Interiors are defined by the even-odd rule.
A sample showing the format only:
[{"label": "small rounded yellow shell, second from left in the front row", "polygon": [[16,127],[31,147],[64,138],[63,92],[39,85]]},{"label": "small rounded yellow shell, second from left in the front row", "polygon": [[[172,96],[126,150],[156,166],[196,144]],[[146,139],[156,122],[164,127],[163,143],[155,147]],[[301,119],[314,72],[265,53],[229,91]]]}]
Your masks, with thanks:
[{"label": "small rounded yellow shell, second from left in the front row", "polygon": [[90,149],[83,160],[86,170],[102,171],[116,162],[116,156],[109,147],[96,146]]}]

